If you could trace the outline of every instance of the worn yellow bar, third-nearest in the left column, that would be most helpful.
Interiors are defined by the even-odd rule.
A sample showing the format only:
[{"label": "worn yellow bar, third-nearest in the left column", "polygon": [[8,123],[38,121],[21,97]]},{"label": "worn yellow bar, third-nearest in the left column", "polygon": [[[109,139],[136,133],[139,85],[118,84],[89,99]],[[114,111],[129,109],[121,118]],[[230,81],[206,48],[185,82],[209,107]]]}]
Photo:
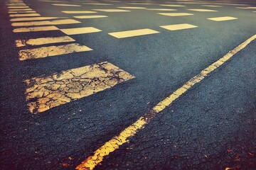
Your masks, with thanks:
[{"label": "worn yellow bar, third-nearest in the left column", "polygon": [[57,38],[36,38],[30,40],[16,40],[16,47],[24,47],[26,45],[46,45],[58,42],[74,42],[73,38],[68,36],[57,37]]}]

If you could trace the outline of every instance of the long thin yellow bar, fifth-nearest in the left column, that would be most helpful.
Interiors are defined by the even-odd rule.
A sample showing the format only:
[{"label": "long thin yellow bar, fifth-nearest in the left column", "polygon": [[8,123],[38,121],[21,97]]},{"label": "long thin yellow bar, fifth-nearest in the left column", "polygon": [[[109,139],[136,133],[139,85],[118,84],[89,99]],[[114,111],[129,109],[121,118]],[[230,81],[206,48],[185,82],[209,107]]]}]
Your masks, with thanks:
[{"label": "long thin yellow bar, fifth-nearest in the left column", "polygon": [[47,25],[63,25],[63,24],[73,24],[80,23],[79,21],[73,19],[63,19],[54,21],[33,21],[26,23],[11,23],[11,26],[47,26]]}]

